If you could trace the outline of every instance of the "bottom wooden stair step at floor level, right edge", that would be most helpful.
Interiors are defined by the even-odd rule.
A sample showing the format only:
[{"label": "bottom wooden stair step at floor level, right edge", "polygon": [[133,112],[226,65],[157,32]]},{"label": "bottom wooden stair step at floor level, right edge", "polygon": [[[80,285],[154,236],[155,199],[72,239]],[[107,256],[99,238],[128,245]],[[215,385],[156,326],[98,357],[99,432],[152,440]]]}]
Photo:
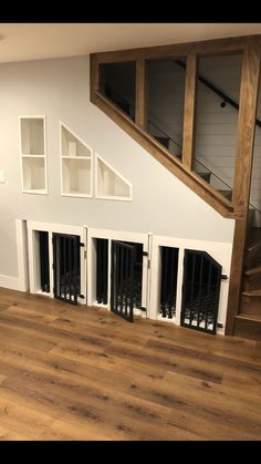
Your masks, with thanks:
[{"label": "bottom wooden stair step at floor level, right edge", "polygon": [[234,318],[234,336],[261,341],[261,317],[239,315]]}]

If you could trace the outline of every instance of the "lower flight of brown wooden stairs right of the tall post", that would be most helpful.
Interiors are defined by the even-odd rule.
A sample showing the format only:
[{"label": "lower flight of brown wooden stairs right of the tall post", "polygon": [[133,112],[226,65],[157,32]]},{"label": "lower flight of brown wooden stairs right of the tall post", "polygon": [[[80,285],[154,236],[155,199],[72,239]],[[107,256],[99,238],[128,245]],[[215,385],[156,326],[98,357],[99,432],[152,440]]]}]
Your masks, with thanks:
[{"label": "lower flight of brown wooden stairs right of the tall post", "polygon": [[248,234],[239,313],[234,336],[261,340],[261,228]]}]

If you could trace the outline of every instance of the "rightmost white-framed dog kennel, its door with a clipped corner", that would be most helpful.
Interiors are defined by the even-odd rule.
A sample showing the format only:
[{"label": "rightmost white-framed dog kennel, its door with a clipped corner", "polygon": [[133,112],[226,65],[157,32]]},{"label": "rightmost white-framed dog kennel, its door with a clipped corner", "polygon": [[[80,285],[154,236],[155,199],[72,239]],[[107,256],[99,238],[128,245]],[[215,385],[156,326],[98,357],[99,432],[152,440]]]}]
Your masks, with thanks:
[{"label": "rightmost white-framed dog kennel, its door with a clipped corner", "polygon": [[229,244],[153,236],[148,317],[223,333]]}]

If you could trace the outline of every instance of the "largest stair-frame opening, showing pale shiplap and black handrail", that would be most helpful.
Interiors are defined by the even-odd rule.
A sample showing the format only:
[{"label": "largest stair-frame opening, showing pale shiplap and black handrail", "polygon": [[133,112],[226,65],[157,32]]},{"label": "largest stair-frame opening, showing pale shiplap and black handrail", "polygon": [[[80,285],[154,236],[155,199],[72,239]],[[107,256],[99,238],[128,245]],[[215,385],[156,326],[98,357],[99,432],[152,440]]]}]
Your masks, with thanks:
[{"label": "largest stair-frame opening, showing pale shiplap and black handrail", "polygon": [[228,199],[234,182],[241,66],[242,53],[198,60],[192,168]]}]

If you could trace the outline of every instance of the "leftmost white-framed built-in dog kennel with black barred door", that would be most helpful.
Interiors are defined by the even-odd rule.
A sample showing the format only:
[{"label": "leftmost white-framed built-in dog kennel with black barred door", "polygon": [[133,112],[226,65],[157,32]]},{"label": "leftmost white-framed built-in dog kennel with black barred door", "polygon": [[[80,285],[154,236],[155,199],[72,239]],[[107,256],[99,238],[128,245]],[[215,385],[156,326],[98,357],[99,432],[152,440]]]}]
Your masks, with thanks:
[{"label": "leftmost white-framed built-in dog kennel with black barred door", "polygon": [[86,303],[86,230],[29,221],[28,240],[30,291]]}]

